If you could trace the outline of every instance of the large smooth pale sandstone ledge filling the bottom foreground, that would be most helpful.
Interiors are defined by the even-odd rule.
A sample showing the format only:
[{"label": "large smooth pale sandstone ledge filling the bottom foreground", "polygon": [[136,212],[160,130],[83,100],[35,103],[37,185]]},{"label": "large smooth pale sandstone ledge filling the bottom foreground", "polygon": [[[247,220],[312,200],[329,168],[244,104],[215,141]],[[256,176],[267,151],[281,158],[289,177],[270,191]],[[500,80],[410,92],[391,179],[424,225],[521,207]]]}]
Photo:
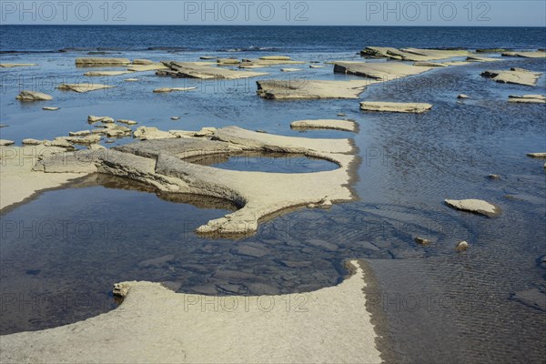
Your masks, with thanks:
[{"label": "large smooth pale sandstone ledge filling the bottom foreground", "polygon": [[115,286],[126,295],[120,307],[56,329],[3,336],[0,361],[380,363],[363,264],[351,260],[352,276],[338,286],[283,296],[211,297],[123,282]]}]

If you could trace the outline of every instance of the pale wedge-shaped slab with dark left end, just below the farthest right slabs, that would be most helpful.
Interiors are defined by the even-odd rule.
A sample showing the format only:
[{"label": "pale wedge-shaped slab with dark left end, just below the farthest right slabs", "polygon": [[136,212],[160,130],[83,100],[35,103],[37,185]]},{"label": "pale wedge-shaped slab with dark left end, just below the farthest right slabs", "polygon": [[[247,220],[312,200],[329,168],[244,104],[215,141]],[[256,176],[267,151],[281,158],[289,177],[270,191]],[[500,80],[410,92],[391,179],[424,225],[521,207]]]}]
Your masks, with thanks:
[{"label": "pale wedge-shaped slab with dark left end, just below the farthest right slabs", "polygon": [[349,75],[363,76],[389,81],[397,78],[419,75],[430,70],[426,66],[412,66],[399,62],[336,62],[334,72]]}]

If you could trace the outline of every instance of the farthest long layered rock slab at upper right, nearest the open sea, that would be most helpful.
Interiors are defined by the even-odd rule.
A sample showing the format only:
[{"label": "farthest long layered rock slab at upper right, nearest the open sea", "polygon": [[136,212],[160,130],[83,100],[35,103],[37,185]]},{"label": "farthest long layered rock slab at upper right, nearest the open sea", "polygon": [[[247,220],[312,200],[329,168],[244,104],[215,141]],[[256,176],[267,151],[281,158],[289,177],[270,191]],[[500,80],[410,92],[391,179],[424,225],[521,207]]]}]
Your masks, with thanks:
[{"label": "farthest long layered rock slab at upper right, nearest the open sea", "polygon": [[360,56],[374,58],[391,58],[402,61],[431,61],[448,59],[456,56],[471,56],[466,50],[420,49],[420,48],[393,48],[381,46],[368,46],[360,52]]}]

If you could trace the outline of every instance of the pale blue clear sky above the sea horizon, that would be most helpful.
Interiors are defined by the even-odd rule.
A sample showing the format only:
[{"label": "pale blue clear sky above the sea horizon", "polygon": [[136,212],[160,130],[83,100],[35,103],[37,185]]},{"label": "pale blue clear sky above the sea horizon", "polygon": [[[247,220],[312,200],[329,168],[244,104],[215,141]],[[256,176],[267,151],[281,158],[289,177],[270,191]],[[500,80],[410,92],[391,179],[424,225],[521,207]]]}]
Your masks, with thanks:
[{"label": "pale blue clear sky above the sea horizon", "polygon": [[0,23],[546,26],[546,1],[1,0]]}]

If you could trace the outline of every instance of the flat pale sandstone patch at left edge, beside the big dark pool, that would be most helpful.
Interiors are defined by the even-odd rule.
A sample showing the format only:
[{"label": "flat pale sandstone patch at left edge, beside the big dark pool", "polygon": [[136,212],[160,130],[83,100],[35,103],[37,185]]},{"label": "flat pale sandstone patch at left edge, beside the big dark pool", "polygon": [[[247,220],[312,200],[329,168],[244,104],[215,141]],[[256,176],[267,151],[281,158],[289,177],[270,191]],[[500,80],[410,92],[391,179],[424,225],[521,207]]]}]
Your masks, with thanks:
[{"label": "flat pale sandstone patch at left edge, beside the big dark pool", "polygon": [[[0,147],[0,210],[24,201],[36,192],[60,187],[78,173],[46,174],[33,171],[38,158],[66,153],[62,147]],[[1,341],[1,340],[0,340]]]}]

